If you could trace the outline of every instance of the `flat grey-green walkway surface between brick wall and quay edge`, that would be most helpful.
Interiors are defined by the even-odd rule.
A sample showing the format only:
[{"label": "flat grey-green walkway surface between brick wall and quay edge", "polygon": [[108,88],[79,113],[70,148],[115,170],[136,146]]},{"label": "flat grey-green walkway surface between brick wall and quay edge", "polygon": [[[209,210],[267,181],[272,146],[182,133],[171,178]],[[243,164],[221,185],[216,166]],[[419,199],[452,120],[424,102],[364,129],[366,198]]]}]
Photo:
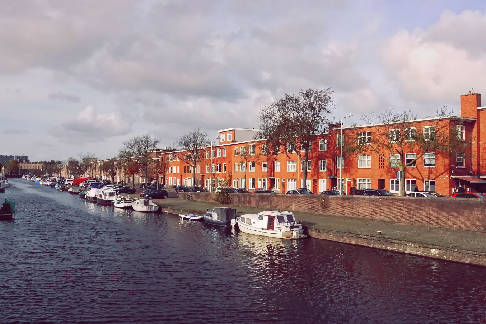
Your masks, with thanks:
[{"label": "flat grey-green walkway surface between brick wall and quay edge", "polygon": [[[193,213],[202,215],[206,209],[211,210],[216,204],[198,201],[185,201],[174,198],[157,199],[154,203],[160,205],[163,211],[173,213]],[[267,209],[232,205],[237,212],[259,213]],[[366,236],[369,239],[387,241],[406,241],[414,245],[427,245],[444,250],[466,250],[478,256],[486,256],[486,234],[461,231],[422,225],[363,220],[351,217],[328,216],[303,212],[294,212],[297,219],[309,229],[324,230],[333,233],[349,233],[350,235]],[[241,215],[241,214],[240,214]],[[382,231],[378,235],[377,231]]]}]

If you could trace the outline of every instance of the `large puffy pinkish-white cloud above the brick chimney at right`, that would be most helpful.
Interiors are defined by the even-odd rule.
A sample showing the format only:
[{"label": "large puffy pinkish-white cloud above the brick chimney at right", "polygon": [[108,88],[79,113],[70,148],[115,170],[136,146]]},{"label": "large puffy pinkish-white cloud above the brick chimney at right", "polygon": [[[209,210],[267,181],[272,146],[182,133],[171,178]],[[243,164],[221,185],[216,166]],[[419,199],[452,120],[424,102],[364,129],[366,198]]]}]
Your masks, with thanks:
[{"label": "large puffy pinkish-white cloud above the brick chimney at right", "polygon": [[384,67],[404,98],[457,102],[486,84],[486,16],[445,11],[427,30],[400,30],[385,44]]}]

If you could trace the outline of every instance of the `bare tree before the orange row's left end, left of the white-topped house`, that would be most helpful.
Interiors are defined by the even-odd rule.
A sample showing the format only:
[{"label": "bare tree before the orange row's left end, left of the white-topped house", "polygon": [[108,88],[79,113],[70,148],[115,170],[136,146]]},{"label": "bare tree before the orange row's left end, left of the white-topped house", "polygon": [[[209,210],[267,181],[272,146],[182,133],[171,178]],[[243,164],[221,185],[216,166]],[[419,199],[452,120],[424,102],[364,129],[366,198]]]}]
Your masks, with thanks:
[{"label": "bare tree before the orange row's left end, left of the white-topped house", "polygon": [[196,181],[196,164],[204,159],[205,148],[211,145],[208,133],[201,132],[201,128],[194,129],[179,137],[174,143],[174,150],[184,151],[182,161],[192,168],[192,184]]}]

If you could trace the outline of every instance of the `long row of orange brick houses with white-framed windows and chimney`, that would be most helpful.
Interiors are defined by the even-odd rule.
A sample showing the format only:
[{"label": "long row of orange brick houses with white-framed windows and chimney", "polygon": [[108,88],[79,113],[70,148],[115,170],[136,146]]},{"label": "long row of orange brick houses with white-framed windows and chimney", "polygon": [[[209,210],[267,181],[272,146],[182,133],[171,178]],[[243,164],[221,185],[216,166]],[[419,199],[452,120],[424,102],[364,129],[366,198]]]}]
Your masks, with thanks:
[{"label": "long row of orange brick houses with white-framed windows and chimney", "polygon": [[[396,121],[397,132],[400,124]],[[218,132],[218,142],[206,148],[205,156],[197,163],[195,183],[192,183],[192,167],[184,162],[186,152],[158,153],[157,156],[169,165],[163,182],[166,186],[263,188],[280,193],[295,188],[309,188],[319,193],[341,186],[346,193],[352,186],[358,189],[384,188],[398,193],[396,164],[373,151],[348,154],[347,157],[343,153],[342,160],[340,156],[341,145],[346,148],[357,135],[364,141],[367,137],[373,138],[385,126],[343,127],[343,138],[340,137],[341,126],[339,123],[331,124],[328,132],[315,136],[306,170],[302,170],[297,155],[301,154],[303,158],[303,152],[286,152],[287,148],[282,146],[276,149],[276,154],[270,154],[265,142],[253,139],[259,130],[224,129]],[[390,126],[393,128],[393,124]],[[461,96],[460,116],[417,119],[407,127],[404,130],[407,134],[417,132],[424,136],[434,135],[438,128],[442,128],[446,135],[454,133],[465,144],[463,152],[459,153],[431,150],[407,167],[404,171],[407,192],[414,191],[416,187],[445,195],[451,195],[458,187],[464,187],[466,191],[486,191],[486,158],[483,158],[486,156],[483,155],[486,149],[486,107],[481,107],[481,94],[469,91]],[[390,152],[385,151],[380,153],[393,158]],[[403,156],[395,158],[409,162],[420,155],[413,143],[408,143],[403,153]],[[307,172],[306,184],[303,183],[304,171]]]}]

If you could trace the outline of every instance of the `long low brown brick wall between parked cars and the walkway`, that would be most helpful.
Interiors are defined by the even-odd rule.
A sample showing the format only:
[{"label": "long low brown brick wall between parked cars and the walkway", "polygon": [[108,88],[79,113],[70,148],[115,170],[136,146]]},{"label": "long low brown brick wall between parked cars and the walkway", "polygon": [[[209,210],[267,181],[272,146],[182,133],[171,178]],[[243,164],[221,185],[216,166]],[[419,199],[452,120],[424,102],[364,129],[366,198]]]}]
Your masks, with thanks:
[{"label": "long low brown brick wall between parked cars and the walkway", "polygon": [[[486,202],[471,198],[419,198],[231,193],[232,205],[436,226],[486,233]],[[178,198],[184,199],[179,193]],[[215,193],[191,192],[215,203]]]}]

